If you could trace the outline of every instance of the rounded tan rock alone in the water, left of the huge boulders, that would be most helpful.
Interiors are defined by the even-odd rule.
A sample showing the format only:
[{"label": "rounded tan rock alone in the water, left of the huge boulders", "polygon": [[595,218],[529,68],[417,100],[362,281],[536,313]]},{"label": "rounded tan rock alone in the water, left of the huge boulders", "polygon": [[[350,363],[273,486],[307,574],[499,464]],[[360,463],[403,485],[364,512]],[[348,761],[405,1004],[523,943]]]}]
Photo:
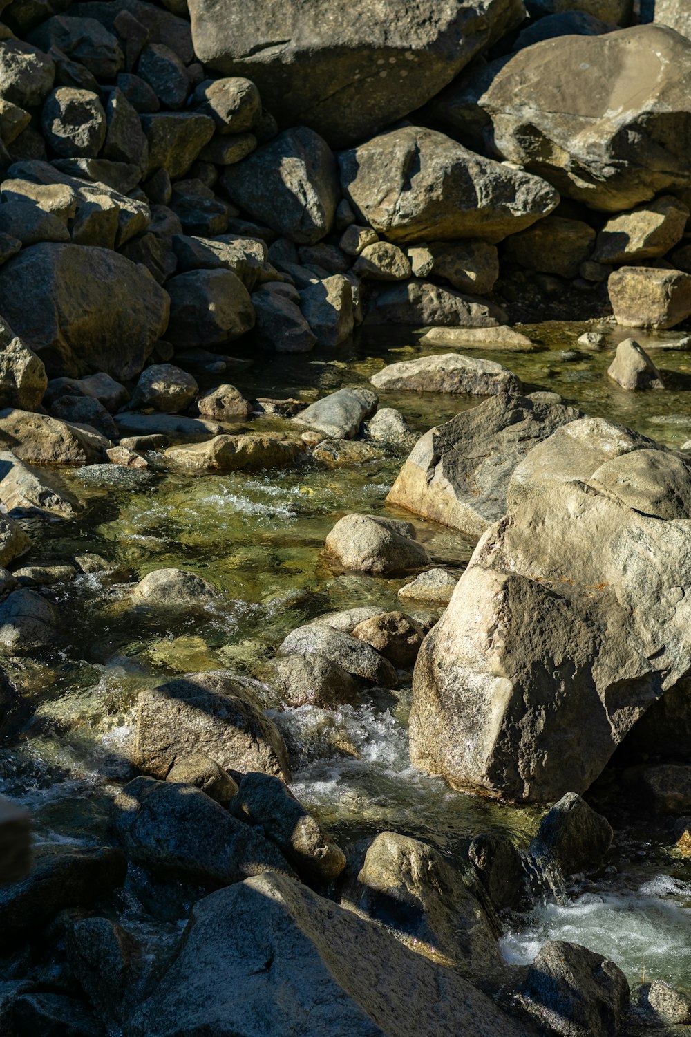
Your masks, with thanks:
[{"label": "rounded tan rock alone in the water, left of the huge boulders", "polygon": [[326,557],[351,572],[395,576],[429,565],[411,523],[375,515],[349,514],[327,535]]}]

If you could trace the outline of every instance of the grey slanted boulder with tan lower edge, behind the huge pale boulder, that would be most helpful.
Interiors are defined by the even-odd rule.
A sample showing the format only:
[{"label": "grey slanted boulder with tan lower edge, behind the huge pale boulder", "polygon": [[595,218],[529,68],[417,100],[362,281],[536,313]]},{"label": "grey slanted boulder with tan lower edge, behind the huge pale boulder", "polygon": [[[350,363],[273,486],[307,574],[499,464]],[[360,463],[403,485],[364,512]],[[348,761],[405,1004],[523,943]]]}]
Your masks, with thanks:
[{"label": "grey slanted boulder with tan lower edge, behind the huge pale boulder", "polygon": [[479,537],[506,512],[509,480],[528,450],[579,417],[560,403],[500,393],[425,432],[386,500]]}]

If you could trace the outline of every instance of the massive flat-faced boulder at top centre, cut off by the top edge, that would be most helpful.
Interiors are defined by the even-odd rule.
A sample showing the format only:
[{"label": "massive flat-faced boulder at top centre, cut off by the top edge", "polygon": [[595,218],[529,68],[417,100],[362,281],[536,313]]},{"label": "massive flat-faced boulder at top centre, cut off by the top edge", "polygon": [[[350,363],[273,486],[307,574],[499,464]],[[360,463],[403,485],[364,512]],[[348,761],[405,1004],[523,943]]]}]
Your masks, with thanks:
[{"label": "massive flat-faced boulder at top centre, cut off by the top edge", "polygon": [[305,122],[336,146],[362,140],[434,96],[483,48],[517,26],[519,0],[190,0],[195,51],[247,76],[284,125]]}]

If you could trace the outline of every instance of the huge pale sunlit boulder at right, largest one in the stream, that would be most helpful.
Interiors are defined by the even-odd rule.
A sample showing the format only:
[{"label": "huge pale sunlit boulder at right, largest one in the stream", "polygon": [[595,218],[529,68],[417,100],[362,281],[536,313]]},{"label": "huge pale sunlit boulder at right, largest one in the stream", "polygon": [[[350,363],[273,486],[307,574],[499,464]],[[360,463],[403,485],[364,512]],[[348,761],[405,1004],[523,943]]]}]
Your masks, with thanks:
[{"label": "huge pale sunlit boulder at right, largest one in the stream", "polygon": [[686,676],[691,468],[654,447],[588,419],[527,454],[418,656],[416,763],[516,800],[583,792]]}]

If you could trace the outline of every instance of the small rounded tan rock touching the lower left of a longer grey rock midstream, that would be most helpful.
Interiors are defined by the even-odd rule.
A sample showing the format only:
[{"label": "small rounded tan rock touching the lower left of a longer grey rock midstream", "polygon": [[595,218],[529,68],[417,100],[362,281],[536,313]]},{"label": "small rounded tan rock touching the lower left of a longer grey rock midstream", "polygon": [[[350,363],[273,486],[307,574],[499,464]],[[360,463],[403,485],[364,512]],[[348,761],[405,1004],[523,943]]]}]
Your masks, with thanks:
[{"label": "small rounded tan rock touching the lower left of a longer grey rock midstream", "polygon": [[349,673],[324,655],[295,652],[277,658],[269,682],[289,706],[334,709],[357,699],[358,685]]}]

